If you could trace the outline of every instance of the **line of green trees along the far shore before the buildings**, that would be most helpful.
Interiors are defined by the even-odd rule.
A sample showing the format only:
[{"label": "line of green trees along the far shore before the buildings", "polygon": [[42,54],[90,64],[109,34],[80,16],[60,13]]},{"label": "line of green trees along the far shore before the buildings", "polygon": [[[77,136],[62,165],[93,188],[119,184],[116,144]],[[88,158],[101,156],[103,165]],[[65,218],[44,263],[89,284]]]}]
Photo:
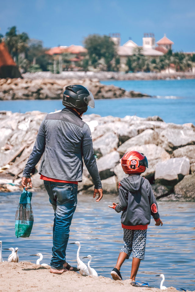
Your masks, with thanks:
[{"label": "line of green trees along the far shore before the buildings", "polygon": [[[0,34],[0,42],[4,41],[9,53],[22,73],[51,71],[59,73],[64,70],[80,71],[120,71],[122,64],[117,55],[117,48],[112,38],[106,35],[92,34],[83,40],[87,53],[82,53],[79,62],[73,65],[71,59],[76,54],[63,53],[48,55],[49,48],[43,47],[41,40],[30,39],[28,34],[19,33],[16,26],[12,26],[5,33]],[[173,64],[176,71],[190,71],[195,67],[195,54],[187,55],[183,52],[173,53],[169,50],[159,57],[143,54],[140,47],[136,47],[133,55],[126,59],[122,70],[125,72],[161,72]]]}]

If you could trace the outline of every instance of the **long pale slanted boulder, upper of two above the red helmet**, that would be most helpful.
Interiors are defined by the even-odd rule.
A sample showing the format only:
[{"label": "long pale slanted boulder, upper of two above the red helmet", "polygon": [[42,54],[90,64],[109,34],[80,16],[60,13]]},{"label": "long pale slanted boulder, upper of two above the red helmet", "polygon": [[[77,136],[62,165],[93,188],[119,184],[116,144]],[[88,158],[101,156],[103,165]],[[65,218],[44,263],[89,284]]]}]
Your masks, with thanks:
[{"label": "long pale slanted boulder, upper of two above the red helmet", "polygon": [[158,133],[154,130],[147,129],[141,134],[127,140],[124,142],[117,151],[122,157],[126,152],[130,150],[137,150],[137,146],[145,145],[145,144],[158,144]]}]

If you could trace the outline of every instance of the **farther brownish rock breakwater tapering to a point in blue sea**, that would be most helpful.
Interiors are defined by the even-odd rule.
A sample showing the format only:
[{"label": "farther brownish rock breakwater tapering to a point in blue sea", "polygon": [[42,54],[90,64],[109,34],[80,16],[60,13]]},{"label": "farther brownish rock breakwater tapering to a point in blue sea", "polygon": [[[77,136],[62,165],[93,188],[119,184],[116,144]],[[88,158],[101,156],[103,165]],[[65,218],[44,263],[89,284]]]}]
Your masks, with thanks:
[{"label": "farther brownish rock breakwater tapering to a point in blue sea", "polygon": [[0,79],[0,100],[62,99],[65,87],[81,84],[90,89],[95,99],[150,97],[145,93],[126,91],[114,85],[103,85],[94,79]]}]

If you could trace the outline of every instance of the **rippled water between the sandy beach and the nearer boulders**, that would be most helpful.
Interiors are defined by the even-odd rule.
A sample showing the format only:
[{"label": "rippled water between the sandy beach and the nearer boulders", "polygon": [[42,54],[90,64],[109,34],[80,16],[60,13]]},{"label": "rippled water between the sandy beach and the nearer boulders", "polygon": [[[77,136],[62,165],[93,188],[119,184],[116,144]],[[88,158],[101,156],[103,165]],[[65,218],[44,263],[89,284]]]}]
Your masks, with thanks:
[{"label": "rippled water between the sandy beach and the nearer boulders", "polygon": [[[15,213],[20,193],[0,193],[0,240],[2,248],[18,247],[19,261],[36,262],[37,257],[29,256],[41,252],[43,262],[50,263],[52,248],[53,209],[46,192],[33,193],[32,207],[34,225],[29,238],[16,238],[14,231]],[[117,201],[117,198],[114,199]],[[110,271],[115,266],[122,247],[123,232],[120,214],[108,208],[113,196],[105,195],[95,202],[92,195],[78,195],[78,204],[70,227],[69,243],[80,241],[80,257],[92,256],[91,266],[98,275],[112,278]],[[195,290],[195,227],[194,202],[158,202],[162,227],[151,224],[147,231],[145,260],[141,261],[136,280],[160,287],[164,285],[177,289]],[[66,259],[76,265],[77,245],[69,245]],[[3,251],[6,260],[9,251]],[[84,259],[87,264],[87,259]],[[129,279],[132,255],[121,268],[123,280]]]}]

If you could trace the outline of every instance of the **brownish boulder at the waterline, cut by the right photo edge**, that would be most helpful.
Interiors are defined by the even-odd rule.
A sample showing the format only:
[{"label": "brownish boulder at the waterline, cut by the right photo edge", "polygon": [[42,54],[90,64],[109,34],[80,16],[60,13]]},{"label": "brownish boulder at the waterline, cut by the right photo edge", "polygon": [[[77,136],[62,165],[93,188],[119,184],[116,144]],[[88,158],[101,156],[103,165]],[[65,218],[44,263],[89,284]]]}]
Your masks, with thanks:
[{"label": "brownish boulder at the waterline, cut by the right photo edge", "polygon": [[184,201],[193,201],[195,202],[195,174],[186,175],[182,181],[179,181],[174,187],[175,196],[179,196],[179,199],[182,198]]}]

